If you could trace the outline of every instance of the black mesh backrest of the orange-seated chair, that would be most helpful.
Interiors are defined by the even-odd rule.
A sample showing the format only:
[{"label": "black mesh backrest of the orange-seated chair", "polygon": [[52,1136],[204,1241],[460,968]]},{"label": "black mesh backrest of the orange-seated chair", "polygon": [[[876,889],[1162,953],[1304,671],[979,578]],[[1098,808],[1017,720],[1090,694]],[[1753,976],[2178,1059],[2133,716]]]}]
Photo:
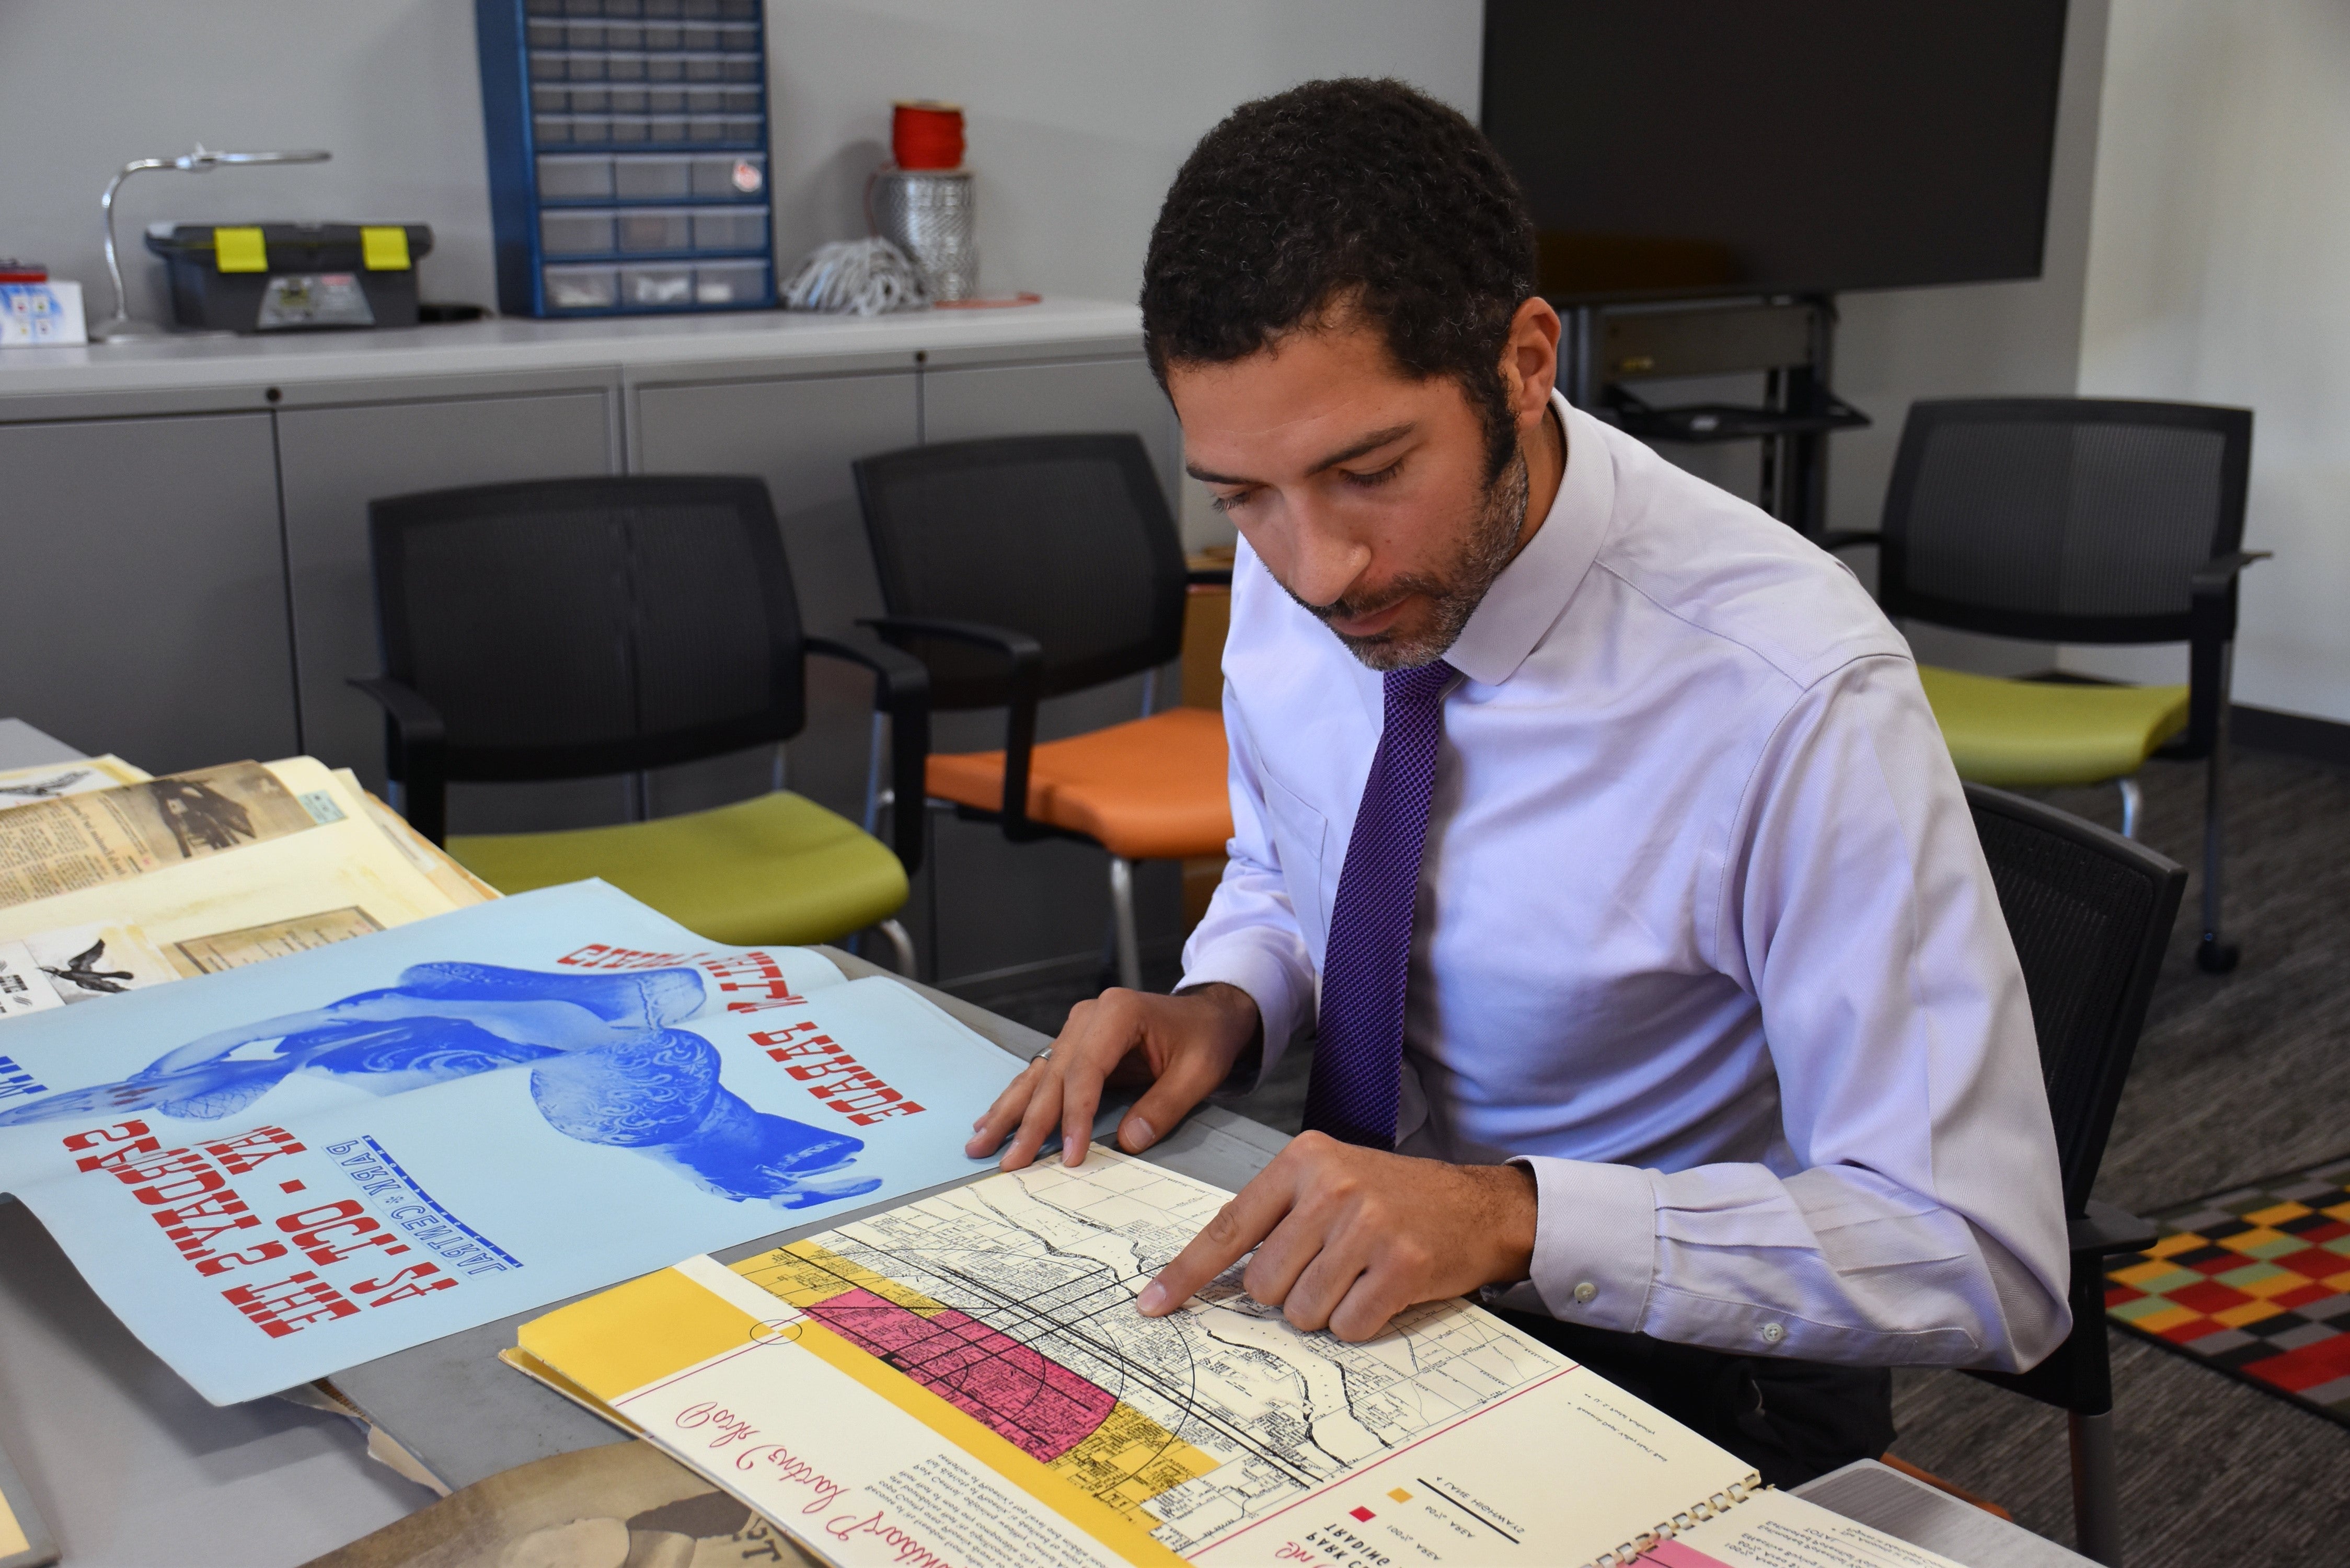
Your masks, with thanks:
[{"label": "black mesh backrest of the orange-seated chair", "polygon": [[[1027,632],[1043,696],[1182,654],[1182,541],[1137,435],[942,442],[853,468],[888,614]],[[933,708],[1003,703],[987,651],[902,642],[931,665]]]}]

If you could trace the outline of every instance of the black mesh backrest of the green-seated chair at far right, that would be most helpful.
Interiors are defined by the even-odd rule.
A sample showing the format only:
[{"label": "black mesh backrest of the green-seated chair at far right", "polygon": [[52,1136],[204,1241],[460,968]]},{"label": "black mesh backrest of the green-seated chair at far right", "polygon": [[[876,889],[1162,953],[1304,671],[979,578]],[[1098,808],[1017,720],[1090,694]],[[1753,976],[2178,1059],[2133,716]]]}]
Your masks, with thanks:
[{"label": "black mesh backrest of the green-seated chair at far right", "polygon": [[1894,618],[2186,642],[2188,578],[2244,541],[2251,409],[2113,397],[1911,407],[1885,491]]}]

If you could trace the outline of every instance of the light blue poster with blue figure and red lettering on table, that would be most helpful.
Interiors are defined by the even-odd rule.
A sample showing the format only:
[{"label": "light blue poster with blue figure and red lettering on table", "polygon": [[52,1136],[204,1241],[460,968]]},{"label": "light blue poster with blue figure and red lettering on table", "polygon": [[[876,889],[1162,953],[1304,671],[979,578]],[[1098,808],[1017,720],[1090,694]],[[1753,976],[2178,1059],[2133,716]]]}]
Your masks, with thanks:
[{"label": "light blue poster with blue figure and red lettering on table", "polygon": [[0,1025],[0,1192],[233,1403],[980,1171],[1015,1067],[583,882]]}]

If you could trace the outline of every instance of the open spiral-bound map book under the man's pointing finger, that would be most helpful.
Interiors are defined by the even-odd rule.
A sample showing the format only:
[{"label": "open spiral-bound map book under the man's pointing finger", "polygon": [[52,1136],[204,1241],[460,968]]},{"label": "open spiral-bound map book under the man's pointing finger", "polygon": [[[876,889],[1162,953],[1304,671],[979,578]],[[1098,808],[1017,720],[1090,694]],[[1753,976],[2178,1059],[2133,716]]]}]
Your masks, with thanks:
[{"label": "open spiral-bound map book under the man's pointing finger", "polygon": [[[1095,1147],[689,1258],[524,1324],[512,1359],[841,1568],[1939,1563],[1758,1507],[1744,1460],[1469,1302],[1349,1345],[1234,1269],[1140,1316],[1227,1199]],[[1845,1526],[1889,1554],[1795,1549]]]}]

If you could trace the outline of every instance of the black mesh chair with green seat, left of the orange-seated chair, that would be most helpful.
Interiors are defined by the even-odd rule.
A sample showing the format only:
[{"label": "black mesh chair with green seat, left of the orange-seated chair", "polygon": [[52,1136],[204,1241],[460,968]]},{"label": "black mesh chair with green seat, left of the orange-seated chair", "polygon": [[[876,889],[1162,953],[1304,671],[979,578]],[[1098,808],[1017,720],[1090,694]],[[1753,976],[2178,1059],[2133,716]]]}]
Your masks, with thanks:
[{"label": "black mesh chair with green seat, left of the orange-seated chair", "polygon": [[[588,477],[484,484],[369,505],[388,773],[435,844],[446,780],[642,773],[757,745],[806,719],[804,658],[874,672],[895,778],[919,788],[928,672],[881,644],[808,637],[766,484]],[[780,757],[780,752],[778,752]],[[639,816],[644,809],[637,792]],[[773,790],[660,820],[446,839],[505,893],[604,877],[719,943],[813,943],[879,924],[921,863]]]}]

